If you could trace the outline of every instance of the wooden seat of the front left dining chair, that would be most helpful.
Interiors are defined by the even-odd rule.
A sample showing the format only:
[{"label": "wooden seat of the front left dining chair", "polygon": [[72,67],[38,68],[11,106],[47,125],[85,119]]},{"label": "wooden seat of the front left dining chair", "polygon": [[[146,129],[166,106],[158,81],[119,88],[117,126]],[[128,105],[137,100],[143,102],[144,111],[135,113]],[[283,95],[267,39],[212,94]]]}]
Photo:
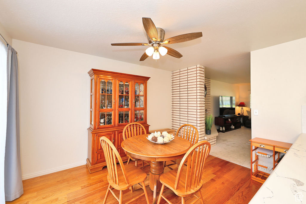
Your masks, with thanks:
[{"label": "wooden seat of the front left dining chair", "polygon": [[147,178],[147,174],[136,167],[133,164],[127,164],[124,165],[125,171],[126,171],[126,176],[129,179],[129,184],[126,184],[123,173],[120,168],[120,164],[117,164],[117,169],[118,169],[118,178],[119,178],[119,184],[114,183],[111,179],[109,174],[107,174],[107,181],[108,183],[114,187],[117,190],[125,190],[128,189],[130,186],[138,184]]}]

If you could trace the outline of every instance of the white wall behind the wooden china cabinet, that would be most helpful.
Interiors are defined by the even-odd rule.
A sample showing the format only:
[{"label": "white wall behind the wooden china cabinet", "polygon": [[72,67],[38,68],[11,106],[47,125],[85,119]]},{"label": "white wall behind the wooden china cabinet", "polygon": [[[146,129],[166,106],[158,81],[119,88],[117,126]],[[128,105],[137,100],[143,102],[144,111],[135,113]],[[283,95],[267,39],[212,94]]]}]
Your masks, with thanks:
[{"label": "white wall behind the wooden china cabinet", "polygon": [[[91,68],[149,76],[150,129],[171,127],[171,72],[13,39],[23,178],[85,164]],[[162,99],[162,100],[159,100]]]}]

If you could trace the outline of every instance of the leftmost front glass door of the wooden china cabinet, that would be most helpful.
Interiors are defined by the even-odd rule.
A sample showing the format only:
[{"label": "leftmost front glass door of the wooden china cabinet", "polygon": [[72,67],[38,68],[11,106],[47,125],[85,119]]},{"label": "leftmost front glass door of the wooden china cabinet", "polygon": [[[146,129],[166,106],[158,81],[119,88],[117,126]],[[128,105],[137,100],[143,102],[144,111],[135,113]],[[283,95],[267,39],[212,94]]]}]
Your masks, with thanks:
[{"label": "leftmost front glass door of the wooden china cabinet", "polygon": [[114,126],[114,80],[101,78],[98,76],[98,106],[99,106],[99,120],[98,127]]}]

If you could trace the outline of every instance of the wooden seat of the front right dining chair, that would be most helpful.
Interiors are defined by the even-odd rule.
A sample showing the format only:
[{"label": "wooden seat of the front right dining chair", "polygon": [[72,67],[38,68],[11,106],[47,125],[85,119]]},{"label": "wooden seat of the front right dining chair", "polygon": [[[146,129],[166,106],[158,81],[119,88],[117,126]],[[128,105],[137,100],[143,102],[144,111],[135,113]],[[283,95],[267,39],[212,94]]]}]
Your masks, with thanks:
[{"label": "wooden seat of the front right dining chair", "polygon": [[177,176],[177,170],[178,169],[174,169],[171,171],[168,171],[166,173],[163,173],[160,177],[159,177],[159,181],[164,184],[166,187],[170,188],[176,195],[180,196],[180,197],[187,197],[190,194],[195,194],[197,191],[199,191],[203,185],[202,179],[200,180],[200,184],[199,186],[195,187],[194,189],[185,192],[185,180],[186,180],[186,166],[182,167],[183,172],[181,174],[181,178],[180,178],[180,182],[177,186],[177,189],[174,189],[174,185],[175,185],[175,180],[176,180],[176,176]]}]

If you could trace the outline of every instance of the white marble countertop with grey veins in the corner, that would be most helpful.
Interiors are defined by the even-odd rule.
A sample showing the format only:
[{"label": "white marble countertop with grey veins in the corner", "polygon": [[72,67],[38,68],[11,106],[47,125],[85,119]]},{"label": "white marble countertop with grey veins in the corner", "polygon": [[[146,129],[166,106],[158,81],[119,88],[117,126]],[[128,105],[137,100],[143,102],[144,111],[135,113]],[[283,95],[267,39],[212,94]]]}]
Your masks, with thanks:
[{"label": "white marble countertop with grey veins in the corner", "polygon": [[249,203],[306,203],[306,134],[302,133]]}]

